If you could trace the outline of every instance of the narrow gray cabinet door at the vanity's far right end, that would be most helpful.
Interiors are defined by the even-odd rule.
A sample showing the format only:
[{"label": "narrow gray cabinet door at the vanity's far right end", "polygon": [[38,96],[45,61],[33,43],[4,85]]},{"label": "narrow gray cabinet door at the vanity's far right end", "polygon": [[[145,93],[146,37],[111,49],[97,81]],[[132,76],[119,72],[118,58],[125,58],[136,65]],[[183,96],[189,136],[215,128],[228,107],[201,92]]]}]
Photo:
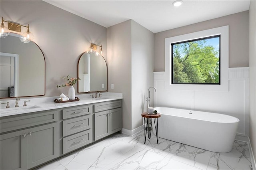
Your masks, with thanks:
[{"label": "narrow gray cabinet door at the vanity's far right end", "polygon": [[122,108],[110,110],[110,134],[122,130]]}]

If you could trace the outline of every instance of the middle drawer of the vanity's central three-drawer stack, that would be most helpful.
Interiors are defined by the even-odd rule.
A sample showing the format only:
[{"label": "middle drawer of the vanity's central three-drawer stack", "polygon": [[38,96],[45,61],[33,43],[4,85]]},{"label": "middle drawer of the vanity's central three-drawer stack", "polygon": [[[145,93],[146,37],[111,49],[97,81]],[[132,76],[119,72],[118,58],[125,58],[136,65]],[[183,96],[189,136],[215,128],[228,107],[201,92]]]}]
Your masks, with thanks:
[{"label": "middle drawer of the vanity's central three-drawer stack", "polygon": [[92,115],[77,117],[63,121],[63,136],[68,136],[92,128]]}]

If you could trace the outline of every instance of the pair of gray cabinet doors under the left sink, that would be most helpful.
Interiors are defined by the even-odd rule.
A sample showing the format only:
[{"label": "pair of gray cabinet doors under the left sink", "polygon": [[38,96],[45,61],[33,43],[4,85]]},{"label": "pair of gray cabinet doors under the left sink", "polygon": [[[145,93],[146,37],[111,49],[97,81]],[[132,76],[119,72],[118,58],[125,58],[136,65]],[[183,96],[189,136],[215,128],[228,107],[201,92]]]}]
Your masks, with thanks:
[{"label": "pair of gray cabinet doors under the left sink", "polygon": [[56,158],[57,123],[1,135],[1,170],[25,170]]}]

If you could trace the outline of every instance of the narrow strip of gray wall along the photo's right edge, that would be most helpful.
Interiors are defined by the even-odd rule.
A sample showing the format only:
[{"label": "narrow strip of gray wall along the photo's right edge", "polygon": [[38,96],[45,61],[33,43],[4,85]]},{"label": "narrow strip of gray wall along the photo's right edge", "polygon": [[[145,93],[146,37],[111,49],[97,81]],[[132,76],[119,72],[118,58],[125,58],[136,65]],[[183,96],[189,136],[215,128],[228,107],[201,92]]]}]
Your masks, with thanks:
[{"label": "narrow strip of gray wall along the photo's right edge", "polygon": [[[249,9],[250,109],[249,138],[256,158],[256,1]],[[252,162],[253,163],[253,162]]]}]

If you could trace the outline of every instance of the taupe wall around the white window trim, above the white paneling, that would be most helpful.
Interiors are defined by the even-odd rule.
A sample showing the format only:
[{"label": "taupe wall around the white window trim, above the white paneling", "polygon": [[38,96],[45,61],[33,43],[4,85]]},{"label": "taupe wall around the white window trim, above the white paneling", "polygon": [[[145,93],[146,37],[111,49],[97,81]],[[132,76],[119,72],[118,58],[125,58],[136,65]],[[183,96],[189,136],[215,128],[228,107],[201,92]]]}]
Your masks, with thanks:
[{"label": "taupe wall around the white window trim, above the white paneling", "polygon": [[248,67],[248,11],[155,34],[154,71],[164,71],[165,38],[229,25],[229,67]]}]

